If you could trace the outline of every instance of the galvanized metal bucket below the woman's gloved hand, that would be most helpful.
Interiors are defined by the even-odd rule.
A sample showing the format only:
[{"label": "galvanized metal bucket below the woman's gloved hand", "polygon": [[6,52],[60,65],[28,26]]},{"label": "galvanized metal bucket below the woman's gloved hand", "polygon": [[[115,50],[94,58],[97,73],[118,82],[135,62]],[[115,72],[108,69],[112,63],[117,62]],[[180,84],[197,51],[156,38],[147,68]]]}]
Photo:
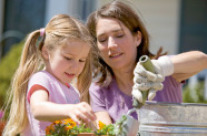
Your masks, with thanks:
[{"label": "galvanized metal bucket below the woman's gloved hand", "polygon": [[207,105],[146,102],[137,110],[140,136],[207,136]]}]

